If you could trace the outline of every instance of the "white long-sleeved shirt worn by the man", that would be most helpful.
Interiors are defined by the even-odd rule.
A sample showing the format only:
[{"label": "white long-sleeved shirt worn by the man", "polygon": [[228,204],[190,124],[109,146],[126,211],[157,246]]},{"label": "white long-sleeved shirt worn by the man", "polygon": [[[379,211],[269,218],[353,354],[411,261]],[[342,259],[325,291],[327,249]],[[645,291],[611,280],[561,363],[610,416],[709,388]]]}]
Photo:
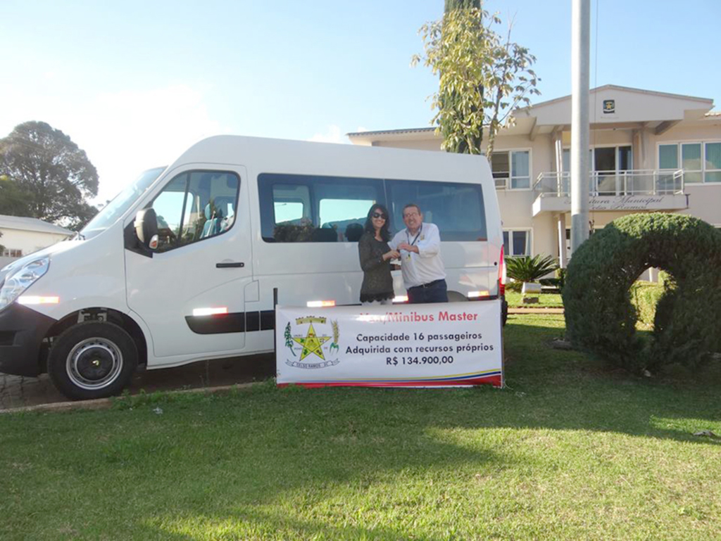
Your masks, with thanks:
[{"label": "white long-sleeved shirt worn by the man", "polygon": [[415,235],[407,228],[402,229],[388,245],[392,250],[396,250],[402,242],[418,247],[418,254],[415,251],[400,251],[401,273],[406,289],[446,278],[446,268],[441,261],[441,234],[438,233],[436,225],[421,223]]}]

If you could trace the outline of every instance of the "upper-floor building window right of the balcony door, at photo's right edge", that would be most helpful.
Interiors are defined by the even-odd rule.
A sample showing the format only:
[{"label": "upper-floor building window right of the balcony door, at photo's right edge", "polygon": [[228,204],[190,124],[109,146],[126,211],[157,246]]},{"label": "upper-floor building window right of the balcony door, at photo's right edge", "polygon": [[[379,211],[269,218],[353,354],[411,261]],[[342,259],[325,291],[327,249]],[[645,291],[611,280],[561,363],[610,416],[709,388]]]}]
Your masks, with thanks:
[{"label": "upper-floor building window right of the balcony door, at photo's right edge", "polygon": [[721,182],[721,142],[659,145],[658,169],[684,169],[684,182]]}]

